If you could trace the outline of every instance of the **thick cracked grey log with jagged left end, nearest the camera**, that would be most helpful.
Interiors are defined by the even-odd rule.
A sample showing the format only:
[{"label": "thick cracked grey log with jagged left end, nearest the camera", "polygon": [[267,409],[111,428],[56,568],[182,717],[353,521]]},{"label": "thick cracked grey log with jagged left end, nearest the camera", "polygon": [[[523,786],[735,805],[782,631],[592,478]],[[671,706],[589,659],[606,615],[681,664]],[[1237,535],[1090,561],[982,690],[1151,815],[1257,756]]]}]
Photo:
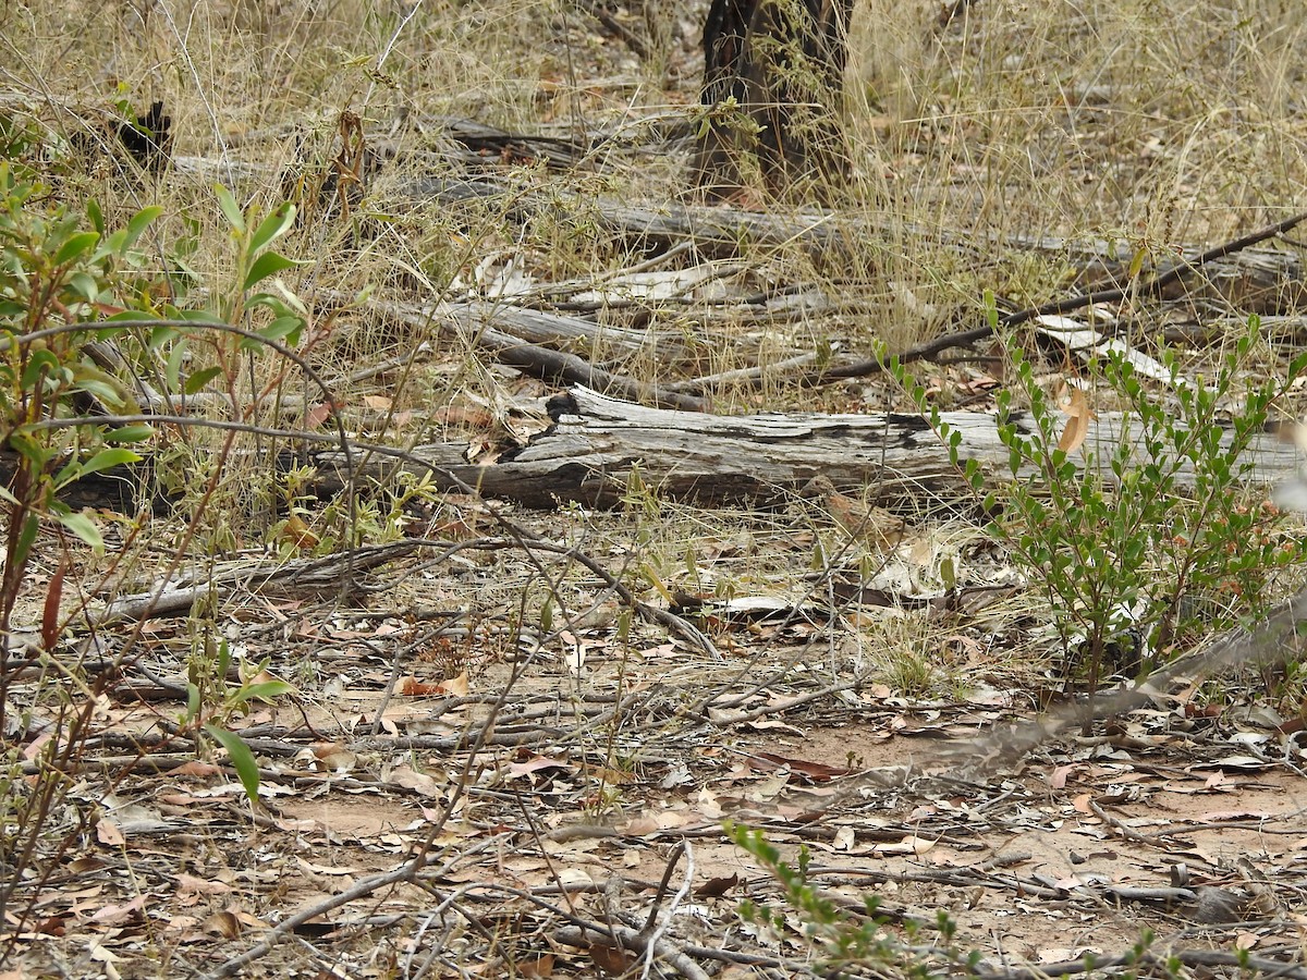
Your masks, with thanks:
[{"label": "thick cracked grey log with jagged left end, nearest the camera", "polygon": [[[418,460],[429,460],[437,482],[448,489],[461,481],[488,497],[531,507],[559,500],[616,504],[637,470],[640,483],[660,497],[704,504],[782,499],[818,474],[842,489],[868,489],[880,504],[914,514],[975,502],[938,435],[915,414],[711,416],[644,408],[580,387],[555,399],[552,414],[555,423],[549,431],[493,465],[457,461],[452,446],[418,447],[414,460],[376,465],[379,472],[395,465],[421,470]],[[963,459],[980,463],[995,485],[1010,478],[1008,449],[993,416],[949,412],[942,418],[961,434]],[[1013,422],[1030,430],[1026,416]],[[1103,416],[1093,423],[1085,447],[1103,457],[1128,429],[1125,417]],[[1131,433],[1136,446],[1138,436]],[[319,452],[315,459],[325,466],[337,455]],[[1137,455],[1142,460],[1141,449]],[[1256,439],[1246,461],[1252,466],[1251,482],[1278,483],[1297,474],[1299,456],[1291,446],[1265,435]],[[1182,482],[1185,476],[1192,476],[1188,464],[1180,468]]]}]

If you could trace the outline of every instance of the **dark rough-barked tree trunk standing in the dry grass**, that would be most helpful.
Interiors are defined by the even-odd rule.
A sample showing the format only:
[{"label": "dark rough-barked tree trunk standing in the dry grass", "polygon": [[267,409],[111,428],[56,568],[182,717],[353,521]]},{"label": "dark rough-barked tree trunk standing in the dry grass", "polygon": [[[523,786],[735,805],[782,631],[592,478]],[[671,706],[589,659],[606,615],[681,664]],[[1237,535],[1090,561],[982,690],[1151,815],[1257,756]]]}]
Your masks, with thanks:
[{"label": "dark rough-barked tree trunk standing in the dry grass", "polygon": [[703,26],[708,119],[695,154],[707,196],[746,187],[750,166],[786,199],[825,197],[844,176],[852,9],[853,0],[712,0]]}]

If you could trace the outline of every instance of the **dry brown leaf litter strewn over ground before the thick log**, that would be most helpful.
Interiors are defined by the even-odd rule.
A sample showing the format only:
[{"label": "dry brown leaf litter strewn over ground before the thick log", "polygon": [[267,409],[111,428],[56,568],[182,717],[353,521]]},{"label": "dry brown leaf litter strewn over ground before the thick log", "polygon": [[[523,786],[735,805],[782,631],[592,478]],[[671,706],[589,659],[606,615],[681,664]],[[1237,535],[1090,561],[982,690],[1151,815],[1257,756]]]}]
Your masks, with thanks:
[{"label": "dry brown leaf litter strewn over ground before the thick log", "polygon": [[[538,295],[533,261],[477,256],[468,299]],[[745,321],[714,337],[738,350],[782,336],[755,328],[787,307],[831,306],[802,282],[746,303],[744,286],[783,276],[750,267],[723,284],[741,272],[629,272],[557,297],[612,310],[698,293],[720,307],[706,323]],[[1080,348],[1104,340],[1073,337],[1068,318],[1043,327]],[[618,346],[648,340],[605,329]],[[954,368],[936,388],[988,404],[996,383]],[[469,430],[469,457],[486,464],[544,425],[520,388],[494,393],[437,419]],[[1074,387],[1068,405],[1073,452],[1090,413]],[[386,391],[349,410],[365,431],[417,421]],[[316,405],[306,427],[329,417]],[[746,595],[719,592],[711,568],[652,570],[647,588],[622,579],[684,631],[623,622],[630,598],[576,561],[629,570],[650,550],[630,512],[523,516],[474,495],[426,515],[426,534],[356,554],[353,605],[305,588],[331,589],[333,567],[291,568],[302,575],[281,585],[242,564],[178,579],[176,592],[220,589],[222,635],[295,687],[233,720],[259,805],[221,753],[178,732],[191,635],[157,609],[97,695],[68,806],[51,814],[50,874],[20,885],[17,975],[634,975],[648,954],[661,975],[818,973],[792,912],[767,925],[737,915],[742,899],[783,903],[724,821],[763,828],[791,861],[806,848],[808,881],[851,915],[874,892],[878,929],[903,950],[942,949],[946,911],[949,941],[978,951],[984,976],[1080,973],[1090,955],[1119,973],[1145,929],[1199,975],[1233,970],[1234,953],[1246,970],[1307,975],[1307,743],[1293,717],[1238,681],[1209,704],[1175,677],[1099,734],[1048,725],[1031,740],[1023,725],[1047,724],[1030,719],[1056,685],[1016,571],[946,524],[816,491],[770,523],[732,514],[714,523],[738,533],[687,536],[698,562],[736,562],[718,581]],[[528,533],[506,532],[505,512]],[[285,541],[311,549],[311,534],[291,525]],[[758,553],[772,564],[750,570]],[[52,595],[44,584],[33,596]],[[133,609],[118,604],[101,626]],[[90,653],[108,666],[103,642]],[[885,669],[886,651],[916,666]],[[950,676],[965,683],[950,690]],[[26,740],[27,775],[48,721],[35,710],[7,733]]]}]

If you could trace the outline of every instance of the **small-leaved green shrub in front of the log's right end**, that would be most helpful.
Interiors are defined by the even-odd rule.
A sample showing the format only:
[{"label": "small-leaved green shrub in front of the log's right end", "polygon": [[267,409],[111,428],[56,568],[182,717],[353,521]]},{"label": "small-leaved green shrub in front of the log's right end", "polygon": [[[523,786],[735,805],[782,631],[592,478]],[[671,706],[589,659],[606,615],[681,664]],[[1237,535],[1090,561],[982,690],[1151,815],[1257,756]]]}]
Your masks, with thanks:
[{"label": "small-leaved green shrub in front of the log's right end", "polygon": [[[989,315],[996,325],[992,301]],[[1265,585],[1304,558],[1298,536],[1276,533],[1253,506],[1248,451],[1272,404],[1307,367],[1307,354],[1293,359],[1286,376],[1243,391],[1243,368],[1259,340],[1252,318],[1216,376],[1197,382],[1183,378],[1175,355],[1163,350],[1161,391],[1121,353],[1091,362],[1090,382],[1123,406],[1120,431],[1074,446],[1067,416],[1040,387],[1018,338],[1008,337],[1014,384],[996,399],[999,439],[1008,449],[999,486],[979,463],[963,461],[961,434],[924,388],[902,365],[889,366],[993,515],[991,533],[1043,592],[1068,679],[1081,676],[1090,698],[1114,651],[1136,651],[1132,664],[1146,673],[1191,630],[1261,615],[1272,597]]]}]

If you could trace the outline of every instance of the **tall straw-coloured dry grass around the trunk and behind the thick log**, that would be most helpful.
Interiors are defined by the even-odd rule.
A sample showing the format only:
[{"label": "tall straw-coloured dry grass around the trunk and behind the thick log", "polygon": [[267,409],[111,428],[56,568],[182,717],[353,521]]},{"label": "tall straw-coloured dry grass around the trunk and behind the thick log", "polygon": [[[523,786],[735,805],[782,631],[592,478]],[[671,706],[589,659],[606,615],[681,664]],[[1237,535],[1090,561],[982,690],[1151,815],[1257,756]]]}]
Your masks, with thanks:
[{"label": "tall straw-coloured dry grass around the trunk and behind the thick log", "polygon": [[[323,289],[456,298],[510,263],[536,284],[600,282],[644,256],[601,231],[584,203],[687,199],[676,146],[646,157],[596,153],[571,171],[491,163],[521,195],[567,201],[524,226],[506,210],[511,201],[455,213],[404,188],[417,176],[460,171],[442,155],[443,118],[558,135],[667,107],[690,114],[701,16],[702,4],[665,9],[651,26],[621,13],[633,31],[656,35],[655,56],[642,64],[595,20],[555,3],[9,7],[0,14],[5,105],[48,127],[48,155],[58,158],[61,140],[116,112],[115,99],[139,110],[162,99],[175,152],[203,166],[183,159],[163,179],[142,179],[105,155],[82,170],[63,167],[56,193],[95,196],[111,222],[161,204],[169,216],[156,238],[161,261],[192,235],[197,247],[186,261],[210,291],[230,289],[233,272],[209,183],[244,174],[235,179],[239,199],[271,206],[288,172],[322,166],[339,150],[342,112],[365,120],[386,162],[348,216],[306,201],[286,247],[305,265],[286,282],[311,307]],[[746,248],[744,270],[724,280],[744,291],[806,282],[835,306],[759,319],[655,303],[646,329],[680,335],[691,355],[668,363],[651,345],[622,367],[668,382],[830,342],[855,354],[877,342],[899,349],[968,323],[984,289],[1016,304],[1064,295],[1067,256],[1023,252],[1012,247],[1016,238],[1117,239],[1163,260],[1183,244],[1212,243],[1295,208],[1307,172],[1298,97],[1307,25],[1287,0],[983,3],[948,27],[937,18],[935,3],[890,0],[869,0],[856,14],[855,180],[840,210],[873,217],[880,231],[829,255],[797,243]],[[609,318],[633,323],[620,311]],[[395,327],[369,315],[366,303],[340,316],[320,308],[315,329],[315,365],[345,400],[348,419],[376,438],[451,440],[468,430],[451,406],[494,413],[515,391],[536,391],[489,366],[469,337],[442,336],[434,324]],[[422,344],[433,353],[399,374],[344,380]],[[1273,367],[1273,351],[1265,355]],[[280,366],[260,365],[240,384],[252,392],[272,370]],[[932,372],[942,399],[955,376],[955,368]],[[318,397],[302,388],[280,395],[301,404]],[[812,392],[775,379],[762,389],[724,387],[715,401],[721,412],[901,405],[881,383]],[[282,421],[274,404],[259,408],[267,421]],[[391,413],[408,414],[387,435]],[[182,459],[186,466],[186,452]],[[250,545],[269,533],[285,490],[265,483],[255,470],[220,489],[212,544]],[[246,514],[239,525],[251,510],[264,516],[231,527],[233,515]],[[643,542],[668,566],[698,537],[678,537],[674,525]]]}]

